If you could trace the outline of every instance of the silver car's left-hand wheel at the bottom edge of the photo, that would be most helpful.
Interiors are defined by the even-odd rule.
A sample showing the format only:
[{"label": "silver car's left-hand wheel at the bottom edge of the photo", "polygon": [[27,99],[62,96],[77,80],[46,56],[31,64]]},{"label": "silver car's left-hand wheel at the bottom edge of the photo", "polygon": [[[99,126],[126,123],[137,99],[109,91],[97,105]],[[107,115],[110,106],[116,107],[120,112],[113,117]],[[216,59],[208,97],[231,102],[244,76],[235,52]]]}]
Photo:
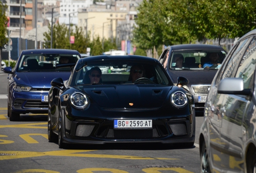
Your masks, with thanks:
[{"label": "silver car's left-hand wheel at the bottom edge of the photo", "polygon": [[200,169],[201,173],[211,173],[209,157],[206,149],[205,143],[202,144],[201,154],[200,154]]}]

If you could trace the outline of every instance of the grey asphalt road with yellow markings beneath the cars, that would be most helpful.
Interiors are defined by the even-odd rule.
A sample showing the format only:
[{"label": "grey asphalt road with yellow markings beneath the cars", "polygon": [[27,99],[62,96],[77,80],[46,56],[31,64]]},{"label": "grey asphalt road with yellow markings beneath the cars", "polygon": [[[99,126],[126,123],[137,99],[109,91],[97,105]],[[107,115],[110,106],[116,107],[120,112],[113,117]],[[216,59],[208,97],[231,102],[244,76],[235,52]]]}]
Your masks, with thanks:
[{"label": "grey asphalt road with yellow markings beneath the cars", "polygon": [[199,173],[198,133],[203,117],[196,117],[194,147],[161,144],[73,145],[59,149],[47,139],[47,115],[7,117],[7,76],[0,73],[1,173]]}]

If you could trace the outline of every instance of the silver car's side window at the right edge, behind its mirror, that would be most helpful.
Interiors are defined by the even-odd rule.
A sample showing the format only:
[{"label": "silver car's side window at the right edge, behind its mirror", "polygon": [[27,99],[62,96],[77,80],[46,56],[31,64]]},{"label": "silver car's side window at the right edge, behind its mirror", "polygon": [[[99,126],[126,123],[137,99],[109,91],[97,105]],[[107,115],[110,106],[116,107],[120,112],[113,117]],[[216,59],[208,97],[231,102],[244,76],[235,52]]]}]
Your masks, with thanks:
[{"label": "silver car's side window at the right edge, behind its mirror", "polygon": [[244,79],[244,89],[251,89],[254,83],[254,71],[256,66],[256,38],[249,44],[235,74],[237,78]]}]

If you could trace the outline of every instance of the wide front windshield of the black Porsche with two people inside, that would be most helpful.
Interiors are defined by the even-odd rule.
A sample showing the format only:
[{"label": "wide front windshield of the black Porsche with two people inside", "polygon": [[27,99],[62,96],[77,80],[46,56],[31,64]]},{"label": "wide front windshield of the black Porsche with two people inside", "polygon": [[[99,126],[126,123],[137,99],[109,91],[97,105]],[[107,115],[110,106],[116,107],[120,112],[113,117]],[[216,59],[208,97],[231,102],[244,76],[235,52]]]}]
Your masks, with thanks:
[{"label": "wide front windshield of the black Porsche with two people inside", "polygon": [[136,60],[87,62],[74,70],[72,86],[83,84],[171,84],[161,64]]}]

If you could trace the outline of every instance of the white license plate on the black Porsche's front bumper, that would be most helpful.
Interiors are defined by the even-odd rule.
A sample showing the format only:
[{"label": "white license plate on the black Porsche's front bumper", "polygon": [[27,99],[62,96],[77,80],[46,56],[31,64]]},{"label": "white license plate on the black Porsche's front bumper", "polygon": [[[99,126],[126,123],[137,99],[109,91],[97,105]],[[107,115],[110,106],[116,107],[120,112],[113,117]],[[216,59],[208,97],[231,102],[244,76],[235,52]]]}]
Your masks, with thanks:
[{"label": "white license plate on the black Porsche's front bumper", "polygon": [[114,129],[152,129],[152,120],[114,120]]}]

